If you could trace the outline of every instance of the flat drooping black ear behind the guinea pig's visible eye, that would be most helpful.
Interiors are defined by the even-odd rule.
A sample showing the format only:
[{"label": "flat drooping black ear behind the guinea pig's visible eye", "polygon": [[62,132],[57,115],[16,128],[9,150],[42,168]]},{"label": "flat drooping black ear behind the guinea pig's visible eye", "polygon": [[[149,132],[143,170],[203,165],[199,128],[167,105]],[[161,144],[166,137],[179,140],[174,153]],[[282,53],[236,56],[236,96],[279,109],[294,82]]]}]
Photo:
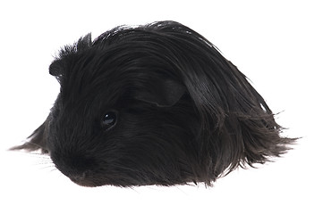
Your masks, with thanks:
[{"label": "flat drooping black ear behind the guinea pig's visible eye", "polygon": [[166,79],[151,83],[149,90],[138,91],[135,98],[158,107],[170,107],[181,99],[185,91],[185,86],[172,79]]}]

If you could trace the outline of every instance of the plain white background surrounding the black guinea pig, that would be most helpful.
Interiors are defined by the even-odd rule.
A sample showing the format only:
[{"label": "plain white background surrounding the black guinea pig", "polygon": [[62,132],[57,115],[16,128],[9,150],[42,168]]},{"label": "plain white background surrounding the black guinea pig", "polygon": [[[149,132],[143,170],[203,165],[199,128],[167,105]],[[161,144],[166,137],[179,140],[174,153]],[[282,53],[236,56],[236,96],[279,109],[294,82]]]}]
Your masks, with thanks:
[{"label": "plain white background surrounding the black guinea pig", "polygon": [[[0,213],[323,213],[319,2],[2,1]],[[195,29],[251,78],[270,108],[283,111],[277,122],[289,128],[285,136],[303,137],[294,149],[208,189],[86,188],[46,157],[6,151],[38,128],[55,102],[59,86],[48,66],[61,46],[89,32],[94,38],[118,25],[163,20]]]}]

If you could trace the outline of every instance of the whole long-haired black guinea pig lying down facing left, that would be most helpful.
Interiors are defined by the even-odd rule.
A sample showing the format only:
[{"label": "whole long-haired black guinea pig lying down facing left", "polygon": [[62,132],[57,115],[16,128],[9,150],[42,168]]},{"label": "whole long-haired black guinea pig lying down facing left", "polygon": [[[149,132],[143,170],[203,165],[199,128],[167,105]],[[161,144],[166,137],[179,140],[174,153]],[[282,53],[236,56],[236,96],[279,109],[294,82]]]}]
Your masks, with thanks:
[{"label": "whole long-haired black guinea pig lying down facing left", "polygon": [[178,22],[81,37],[49,73],[55,104],[13,150],[41,149],[78,185],[212,185],[295,140],[242,72]]}]

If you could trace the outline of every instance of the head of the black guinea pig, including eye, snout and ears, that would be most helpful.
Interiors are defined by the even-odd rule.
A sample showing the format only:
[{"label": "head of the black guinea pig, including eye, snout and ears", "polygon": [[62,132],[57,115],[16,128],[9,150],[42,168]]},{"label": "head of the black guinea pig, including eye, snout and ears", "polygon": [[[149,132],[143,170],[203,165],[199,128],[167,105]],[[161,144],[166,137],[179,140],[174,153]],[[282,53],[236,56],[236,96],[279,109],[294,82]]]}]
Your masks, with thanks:
[{"label": "head of the black guinea pig, including eye, snout and ears", "polygon": [[65,48],[50,66],[61,85],[43,125],[55,167],[85,186],[194,179],[198,149],[190,147],[199,121],[186,88],[167,75],[172,68],[142,49],[86,46]]}]

